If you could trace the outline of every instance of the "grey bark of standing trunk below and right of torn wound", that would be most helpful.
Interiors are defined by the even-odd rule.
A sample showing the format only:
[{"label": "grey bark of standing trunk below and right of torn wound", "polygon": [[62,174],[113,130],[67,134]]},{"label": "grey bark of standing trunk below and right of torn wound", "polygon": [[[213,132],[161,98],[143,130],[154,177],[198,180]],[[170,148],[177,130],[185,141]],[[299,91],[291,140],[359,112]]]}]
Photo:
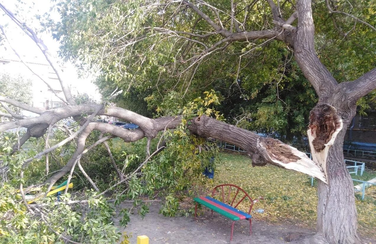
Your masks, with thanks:
[{"label": "grey bark of standing trunk below and right of torn wound", "polygon": [[[354,186],[343,157],[346,128],[355,112],[356,106],[337,111],[343,120],[343,128],[327,154],[328,184],[318,181],[317,235],[312,238],[311,244],[359,243]],[[311,151],[314,148],[311,147]]]}]

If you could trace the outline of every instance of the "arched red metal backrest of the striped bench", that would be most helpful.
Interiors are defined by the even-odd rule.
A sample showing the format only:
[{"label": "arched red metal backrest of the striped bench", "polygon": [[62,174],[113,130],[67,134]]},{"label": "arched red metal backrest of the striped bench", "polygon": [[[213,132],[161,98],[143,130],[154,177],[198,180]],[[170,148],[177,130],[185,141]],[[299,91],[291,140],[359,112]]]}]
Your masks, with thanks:
[{"label": "arched red metal backrest of the striped bench", "polygon": [[[235,192],[235,195],[231,195],[231,193]],[[253,201],[252,198],[241,189],[239,186],[233,185],[233,184],[221,184],[213,189],[212,198],[214,196],[217,196],[217,200],[223,202],[224,204],[230,205],[231,207],[238,207],[238,205],[243,202],[243,200],[249,200],[250,201],[250,207],[248,214],[251,213],[252,207],[253,207]]]}]

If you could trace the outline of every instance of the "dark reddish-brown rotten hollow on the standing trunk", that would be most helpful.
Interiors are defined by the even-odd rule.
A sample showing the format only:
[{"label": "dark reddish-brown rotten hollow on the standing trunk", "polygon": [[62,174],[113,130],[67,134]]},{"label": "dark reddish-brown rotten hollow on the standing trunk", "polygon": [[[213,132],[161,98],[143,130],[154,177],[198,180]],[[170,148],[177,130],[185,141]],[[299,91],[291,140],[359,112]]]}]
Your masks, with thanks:
[{"label": "dark reddish-brown rotten hollow on the standing trunk", "polygon": [[314,137],[312,145],[315,151],[324,150],[325,144],[332,139],[333,133],[341,124],[341,119],[333,106],[322,104],[312,109],[309,114],[309,129]]}]

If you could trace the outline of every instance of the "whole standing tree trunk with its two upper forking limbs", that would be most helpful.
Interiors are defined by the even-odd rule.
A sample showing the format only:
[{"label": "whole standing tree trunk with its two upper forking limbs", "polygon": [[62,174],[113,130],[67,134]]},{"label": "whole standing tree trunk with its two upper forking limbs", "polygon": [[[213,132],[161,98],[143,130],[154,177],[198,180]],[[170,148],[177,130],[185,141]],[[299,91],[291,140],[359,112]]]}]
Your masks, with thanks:
[{"label": "whole standing tree trunk with its two upper forking limbs", "polygon": [[[327,150],[321,166],[326,172],[328,184],[318,183],[317,235],[312,239],[312,244],[358,243],[355,196],[353,183],[344,163],[343,139],[346,127],[355,115],[356,100],[376,88],[373,75],[375,70],[355,81],[338,84],[315,54],[311,1],[299,0],[297,12],[294,56],[319,96],[319,102],[310,118],[311,129],[315,130],[317,138],[310,143],[311,151],[317,150],[320,153]],[[323,111],[323,107],[328,105],[337,110],[338,117],[332,109]],[[339,120],[343,123],[342,129],[336,131],[340,128]],[[326,145],[333,135],[331,145]]]}]

